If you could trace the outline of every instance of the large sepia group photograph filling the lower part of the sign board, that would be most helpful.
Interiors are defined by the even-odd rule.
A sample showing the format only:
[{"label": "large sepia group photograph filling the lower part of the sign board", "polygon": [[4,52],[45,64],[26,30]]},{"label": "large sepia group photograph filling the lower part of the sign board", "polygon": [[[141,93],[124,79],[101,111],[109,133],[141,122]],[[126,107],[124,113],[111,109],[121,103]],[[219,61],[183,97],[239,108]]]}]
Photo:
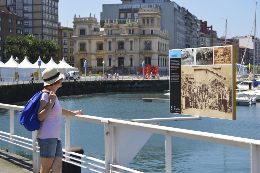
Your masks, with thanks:
[{"label": "large sepia group photograph filling the lower part of the sign board", "polygon": [[181,113],[232,119],[231,65],[181,67]]}]

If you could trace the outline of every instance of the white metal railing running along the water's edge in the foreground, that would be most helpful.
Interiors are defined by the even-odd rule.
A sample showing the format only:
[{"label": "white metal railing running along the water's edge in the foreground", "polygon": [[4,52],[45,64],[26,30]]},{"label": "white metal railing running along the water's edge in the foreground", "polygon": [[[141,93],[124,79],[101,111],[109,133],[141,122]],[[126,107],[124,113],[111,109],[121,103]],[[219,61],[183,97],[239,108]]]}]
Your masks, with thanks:
[{"label": "white metal railing running along the water's edge in the foreground", "polygon": [[[33,132],[32,139],[24,138],[14,134],[14,110],[21,110],[23,106],[0,104],[0,108],[5,108],[10,110],[10,133],[0,131],[0,140],[10,142],[12,144],[21,146],[33,150],[33,172],[38,173],[40,170],[40,156],[39,147],[36,139],[37,132]],[[178,129],[173,127],[165,127],[153,124],[159,124],[161,121],[177,121],[177,120],[198,120],[200,117],[181,117],[181,118],[155,118],[155,119],[136,119],[136,120],[120,120],[112,118],[102,118],[88,115],[76,115],[76,116],[63,116],[65,118],[65,152],[64,162],[68,162],[81,168],[91,170],[98,173],[109,173],[109,172],[121,172],[122,170],[128,172],[140,173],[140,171],[127,168],[120,165],[120,157],[117,153],[123,152],[119,151],[118,144],[120,135],[119,132],[125,129],[132,131],[144,132],[144,133],[157,133],[165,135],[165,172],[172,172],[172,140],[171,137],[180,137],[193,140],[199,140],[204,142],[211,142],[222,145],[235,146],[238,148],[250,149],[251,151],[251,173],[260,172],[260,140],[233,137],[222,134],[207,133],[186,129]],[[90,123],[102,124],[105,126],[105,161],[89,157],[86,155],[78,154],[70,151],[70,119],[78,121],[86,121]],[[156,123],[157,122],[157,123]],[[125,136],[125,134],[123,134]],[[120,139],[122,140],[122,139]],[[72,155],[79,156],[75,158]],[[125,155],[126,157],[127,155]],[[71,161],[79,161],[81,163],[76,163]]]}]

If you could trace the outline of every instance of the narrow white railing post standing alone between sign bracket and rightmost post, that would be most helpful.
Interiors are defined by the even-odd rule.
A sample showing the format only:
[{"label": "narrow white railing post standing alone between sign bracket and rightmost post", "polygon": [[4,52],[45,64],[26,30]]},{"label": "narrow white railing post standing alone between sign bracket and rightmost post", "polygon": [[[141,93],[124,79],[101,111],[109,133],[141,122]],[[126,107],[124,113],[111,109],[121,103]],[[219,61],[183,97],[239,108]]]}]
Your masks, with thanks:
[{"label": "narrow white railing post standing alone between sign bracket and rightmost post", "polygon": [[172,136],[165,135],[165,173],[172,172]]}]

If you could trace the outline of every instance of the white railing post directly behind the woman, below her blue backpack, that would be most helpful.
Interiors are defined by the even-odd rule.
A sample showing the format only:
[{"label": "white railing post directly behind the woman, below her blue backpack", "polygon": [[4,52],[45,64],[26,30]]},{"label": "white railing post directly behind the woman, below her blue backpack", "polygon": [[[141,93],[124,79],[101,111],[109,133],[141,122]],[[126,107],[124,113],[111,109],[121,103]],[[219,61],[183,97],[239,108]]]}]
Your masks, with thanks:
[{"label": "white railing post directly behind the woman, below her blue backpack", "polygon": [[33,173],[39,173],[41,169],[41,160],[40,153],[36,152],[36,138],[37,138],[37,130],[33,131]]}]

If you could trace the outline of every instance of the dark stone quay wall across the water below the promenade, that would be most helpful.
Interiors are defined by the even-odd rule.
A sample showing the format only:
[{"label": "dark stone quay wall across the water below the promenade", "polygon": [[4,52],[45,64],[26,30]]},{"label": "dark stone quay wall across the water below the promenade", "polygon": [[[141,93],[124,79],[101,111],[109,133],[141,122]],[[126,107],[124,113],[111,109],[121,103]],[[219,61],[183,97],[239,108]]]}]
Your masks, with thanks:
[{"label": "dark stone quay wall across the water below the promenade", "polygon": [[[169,80],[116,80],[116,81],[76,81],[62,82],[56,92],[58,97],[79,94],[107,92],[138,92],[169,90]],[[0,103],[13,104],[28,101],[43,89],[43,83],[2,85]]]}]

